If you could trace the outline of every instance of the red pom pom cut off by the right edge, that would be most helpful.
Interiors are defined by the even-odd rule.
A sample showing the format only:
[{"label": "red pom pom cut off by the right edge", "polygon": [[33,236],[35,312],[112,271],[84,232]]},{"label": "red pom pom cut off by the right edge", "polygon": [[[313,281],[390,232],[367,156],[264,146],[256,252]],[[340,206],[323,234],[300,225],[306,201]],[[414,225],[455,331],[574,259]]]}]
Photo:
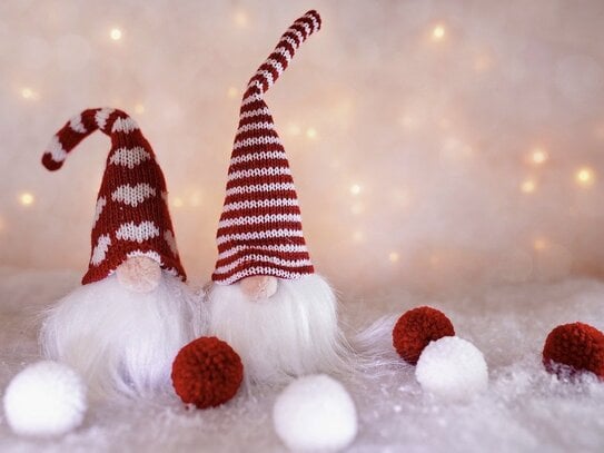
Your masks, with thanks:
[{"label": "red pom pom cut off by the right edge", "polygon": [[545,339],[543,364],[549,373],[588,371],[604,380],[604,334],[583,323],[557,326]]}]

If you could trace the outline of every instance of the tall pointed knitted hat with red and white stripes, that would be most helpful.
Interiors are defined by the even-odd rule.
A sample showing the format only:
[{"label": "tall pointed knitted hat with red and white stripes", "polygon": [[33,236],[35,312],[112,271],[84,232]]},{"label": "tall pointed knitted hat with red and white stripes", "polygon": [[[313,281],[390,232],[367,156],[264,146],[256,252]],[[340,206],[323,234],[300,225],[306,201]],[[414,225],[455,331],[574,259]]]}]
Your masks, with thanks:
[{"label": "tall pointed knitted hat with red and white stripes", "polygon": [[295,279],[314,273],[294,179],[264,95],[319,28],[316,11],[296,20],[244,93],[216,235],[218,260],[211,278],[218,284],[253,275]]}]

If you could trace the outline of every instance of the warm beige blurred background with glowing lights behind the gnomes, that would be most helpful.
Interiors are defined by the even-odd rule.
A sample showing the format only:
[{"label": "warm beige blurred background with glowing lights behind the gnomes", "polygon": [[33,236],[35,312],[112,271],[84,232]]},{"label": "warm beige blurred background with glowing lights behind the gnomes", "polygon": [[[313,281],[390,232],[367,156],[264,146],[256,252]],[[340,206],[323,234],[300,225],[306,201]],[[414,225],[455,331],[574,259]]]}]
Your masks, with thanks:
[{"label": "warm beige blurred background with glowing lights behind the gnomes", "polygon": [[206,279],[241,90],[310,8],[324,27],[267,101],[321,274],[358,294],[604,275],[598,0],[2,1],[2,265],[86,269],[109,140],[39,160],[108,106],[152,144]]}]

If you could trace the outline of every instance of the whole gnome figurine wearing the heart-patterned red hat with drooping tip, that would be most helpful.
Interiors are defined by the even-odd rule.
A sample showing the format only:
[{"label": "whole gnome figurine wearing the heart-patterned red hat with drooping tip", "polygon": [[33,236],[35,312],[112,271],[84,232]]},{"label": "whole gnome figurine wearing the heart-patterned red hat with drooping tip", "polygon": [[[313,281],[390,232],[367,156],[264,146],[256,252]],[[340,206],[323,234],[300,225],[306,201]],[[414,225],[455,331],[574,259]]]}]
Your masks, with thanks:
[{"label": "whole gnome figurine wearing the heart-patterned red hat with drooping tip", "polygon": [[[52,137],[49,170],[95,130],[111,138],[82,286],[43,321],[48,358],[80,372],[91,393],[171,392],[172,361],[201,332],[202,307],[185,284],[164,174],[138,125],[115,109],[89,109]],[[194,315],[196,317],[194,317]]]}]

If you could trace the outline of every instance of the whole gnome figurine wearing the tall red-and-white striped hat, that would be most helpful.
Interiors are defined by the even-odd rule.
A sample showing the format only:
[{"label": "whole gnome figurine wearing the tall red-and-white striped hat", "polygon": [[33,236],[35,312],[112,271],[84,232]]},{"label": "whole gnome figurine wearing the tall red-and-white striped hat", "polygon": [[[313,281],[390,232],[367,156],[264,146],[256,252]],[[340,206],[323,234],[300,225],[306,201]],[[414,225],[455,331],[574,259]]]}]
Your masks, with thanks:
[{"label": "whole gnome figurine wearing the tall red-and-white striped hat", "polygon": [[307,12],[256,71],[232,147],[218,260],[208,285],[208,328],[241,356],[247,382],[284,382],[347,364],[337,301],[315,274],[287,156],[264,100],[319,28],[319,14]]}]

